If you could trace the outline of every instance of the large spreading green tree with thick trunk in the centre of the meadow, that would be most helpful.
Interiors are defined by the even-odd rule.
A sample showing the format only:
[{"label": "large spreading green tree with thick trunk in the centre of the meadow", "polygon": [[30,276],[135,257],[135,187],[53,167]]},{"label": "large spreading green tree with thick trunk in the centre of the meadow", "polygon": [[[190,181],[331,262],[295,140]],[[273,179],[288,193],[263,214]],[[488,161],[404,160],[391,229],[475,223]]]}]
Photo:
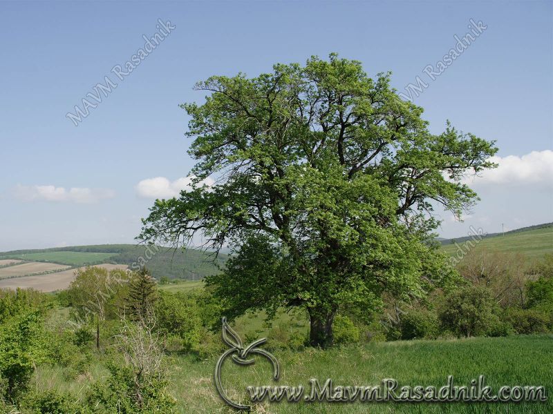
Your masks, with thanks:
[{"label": "large spreading green tree with thick trunk in the centre of the meadow", "polygon": [[341,309],[369,312],[385,291],[440,280],[433,206],[474,204],[462,178],[492,167],[496,148],[449,123],[431,134],[389,76],[330,55],[197,83],[205,103],[182,105],[196,186],[156,200],[140,238],[182,245],[199,232],[205,247],[232,246],[207,279],[227,316],[300,306],[315,346],[332,344]]}]

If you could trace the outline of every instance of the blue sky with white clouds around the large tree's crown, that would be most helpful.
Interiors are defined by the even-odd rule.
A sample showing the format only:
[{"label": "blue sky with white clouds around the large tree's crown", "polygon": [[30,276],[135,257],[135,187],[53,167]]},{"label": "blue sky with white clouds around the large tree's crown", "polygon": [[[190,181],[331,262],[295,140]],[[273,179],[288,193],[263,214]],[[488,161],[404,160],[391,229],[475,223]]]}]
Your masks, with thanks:
[{"label": "blue sky with white clouds around the large tree's crown", "polygon": [[[2,1],[0,251],[133,243],[153,200],[187,186],[194,161],[178,105],[203,101],[196,81],[330,52],[371,77],[391,71],[431,132],[449,119],[496,140],[499,168],[470,183],[480,203],[463,221],[439,210],[442,237],[553,221],[552,4]],[[474,41],[457,45],[471,30]],[[98,95],[106,77],[111,92]],[[80,121],[68,116],[75,106]]]}]

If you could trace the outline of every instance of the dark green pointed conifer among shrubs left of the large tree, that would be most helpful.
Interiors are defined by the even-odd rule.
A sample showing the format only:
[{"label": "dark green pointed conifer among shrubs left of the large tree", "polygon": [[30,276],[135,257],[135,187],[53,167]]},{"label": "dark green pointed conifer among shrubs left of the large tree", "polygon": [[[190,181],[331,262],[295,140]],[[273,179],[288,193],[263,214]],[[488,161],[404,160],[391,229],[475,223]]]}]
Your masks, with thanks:
[{"label": "dark green pointed conifer among shrubs left of the large tree", "polygon": [[144,318],[148,309],[153,307],[156,299],[156,279],[153,279],[149,270],[143,267],[131,278],[125,312],[134,319]]}]

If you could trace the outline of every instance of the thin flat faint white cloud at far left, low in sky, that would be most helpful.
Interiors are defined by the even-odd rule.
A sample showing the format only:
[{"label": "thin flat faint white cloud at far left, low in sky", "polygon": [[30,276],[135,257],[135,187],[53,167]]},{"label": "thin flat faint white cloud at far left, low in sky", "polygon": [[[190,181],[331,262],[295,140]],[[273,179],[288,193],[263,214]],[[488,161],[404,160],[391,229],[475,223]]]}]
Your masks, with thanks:
[{"label": "thin flat faint white cloud at far left, low in sky", "polygon": [[21,186],[15,188],[15,197],[23,201],[58,201],[73,203],[95,203],[101,199],[115,197],[115,191],[109,188],[72,187],[66,189],[56,186]]}]

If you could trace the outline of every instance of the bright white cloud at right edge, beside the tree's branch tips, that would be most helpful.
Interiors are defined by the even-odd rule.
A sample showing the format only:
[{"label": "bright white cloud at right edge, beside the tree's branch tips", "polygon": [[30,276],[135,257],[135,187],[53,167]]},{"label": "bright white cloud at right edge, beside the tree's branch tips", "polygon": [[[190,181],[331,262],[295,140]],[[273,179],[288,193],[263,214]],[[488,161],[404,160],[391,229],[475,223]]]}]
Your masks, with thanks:
[{"label": "bright white cloud at right edge, beside the tree's branch tips", "polygon": [[518,157],[491,157],[497,168],[483,170],[481,177],[468,177],[466,184],[482,186],[492,185],[529,185],[553,186],[553,151],[532,151]]}]

